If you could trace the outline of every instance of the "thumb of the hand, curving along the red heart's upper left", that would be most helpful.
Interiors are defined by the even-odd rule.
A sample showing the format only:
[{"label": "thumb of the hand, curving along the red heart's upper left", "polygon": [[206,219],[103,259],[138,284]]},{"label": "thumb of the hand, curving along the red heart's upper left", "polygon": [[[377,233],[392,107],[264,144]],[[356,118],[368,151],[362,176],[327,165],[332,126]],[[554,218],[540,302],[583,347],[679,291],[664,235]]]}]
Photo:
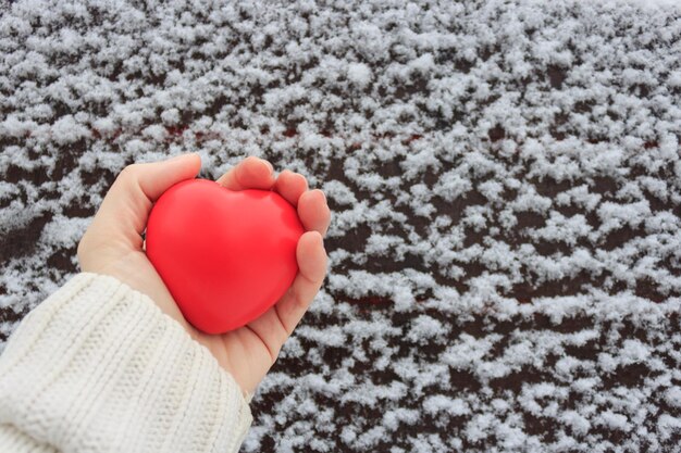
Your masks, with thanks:
[{"label": "thumb of the hand, curving along the red heart's upper left", "polygon": [[171,186],[194,178],[201,168],[197,153],[123,168],[95,215],[88,235],[107,240],[122,240],[141,250],[141,234],[153,202]]}]

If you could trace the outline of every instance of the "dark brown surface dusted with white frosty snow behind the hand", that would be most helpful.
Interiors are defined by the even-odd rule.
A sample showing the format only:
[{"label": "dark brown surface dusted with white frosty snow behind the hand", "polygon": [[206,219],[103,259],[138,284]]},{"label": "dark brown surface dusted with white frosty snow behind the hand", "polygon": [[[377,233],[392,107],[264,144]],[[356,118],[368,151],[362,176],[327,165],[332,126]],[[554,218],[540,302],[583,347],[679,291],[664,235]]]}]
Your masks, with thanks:
[{"label": "dark brown surface dusted with white frosty snow behind the hand", "polygon": [[0,343],[126,164],[255,154],[333,222],[244,452],[681,451],[658,3],[0,2]]}]

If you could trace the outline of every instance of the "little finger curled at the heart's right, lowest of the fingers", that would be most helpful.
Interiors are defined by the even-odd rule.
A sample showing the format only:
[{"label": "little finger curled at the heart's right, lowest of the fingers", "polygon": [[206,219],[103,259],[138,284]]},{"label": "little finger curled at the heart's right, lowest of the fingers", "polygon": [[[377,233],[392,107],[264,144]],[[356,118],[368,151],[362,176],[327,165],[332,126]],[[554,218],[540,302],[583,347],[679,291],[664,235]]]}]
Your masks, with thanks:
[{"label": "little finger curled at the heart's right, lowest of the fingers", "polygon": [[319,231],[307,231],[300,237],[296,257],[298,275],[275,305],[280,322],[287,335],[294,331],[324,282],[327,256]]}]

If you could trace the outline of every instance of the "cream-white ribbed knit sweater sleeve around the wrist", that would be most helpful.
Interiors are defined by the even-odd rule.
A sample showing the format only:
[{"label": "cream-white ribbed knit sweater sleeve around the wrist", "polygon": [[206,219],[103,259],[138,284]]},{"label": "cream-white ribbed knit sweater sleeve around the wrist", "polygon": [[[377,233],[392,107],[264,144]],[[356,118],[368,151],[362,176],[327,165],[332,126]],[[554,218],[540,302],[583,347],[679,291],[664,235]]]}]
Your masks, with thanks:
[{"label": "cream-white ribbed knit sweater sleeve around the wrist", "polygon": [[237,452],[239,386],[145,294],[83,273],[0,356],[0,452]]}]

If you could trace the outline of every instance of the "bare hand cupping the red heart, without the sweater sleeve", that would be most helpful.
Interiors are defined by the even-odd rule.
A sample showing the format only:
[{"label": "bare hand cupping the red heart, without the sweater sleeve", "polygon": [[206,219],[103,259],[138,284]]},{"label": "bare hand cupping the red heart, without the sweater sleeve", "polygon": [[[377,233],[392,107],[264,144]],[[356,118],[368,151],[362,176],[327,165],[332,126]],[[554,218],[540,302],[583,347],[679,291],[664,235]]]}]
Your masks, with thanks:
[{"label": "bare hand cupping the red heart, without the sweater sleeve", "polygon": [[212,352],[243,391],[253,393],[322,286],[327,262],[323,236],[329,229],[331,211],[324,193],[319,189],[308,190],[302,175],[285,169],[275,178],[272,165],[255,156],[245,159],[218,179],[231,190],[275,190],[296,206],[306,232],[296,249],[298,274],[274,306],[239,329],[224,335],[203,334],[182,315],[147,260],[141,237],[153,202],[174,184],[194,178],[200,167],[198,154],[125,167],[78,243],[78,262],[84,272],[113,276],[149,295]]}]

